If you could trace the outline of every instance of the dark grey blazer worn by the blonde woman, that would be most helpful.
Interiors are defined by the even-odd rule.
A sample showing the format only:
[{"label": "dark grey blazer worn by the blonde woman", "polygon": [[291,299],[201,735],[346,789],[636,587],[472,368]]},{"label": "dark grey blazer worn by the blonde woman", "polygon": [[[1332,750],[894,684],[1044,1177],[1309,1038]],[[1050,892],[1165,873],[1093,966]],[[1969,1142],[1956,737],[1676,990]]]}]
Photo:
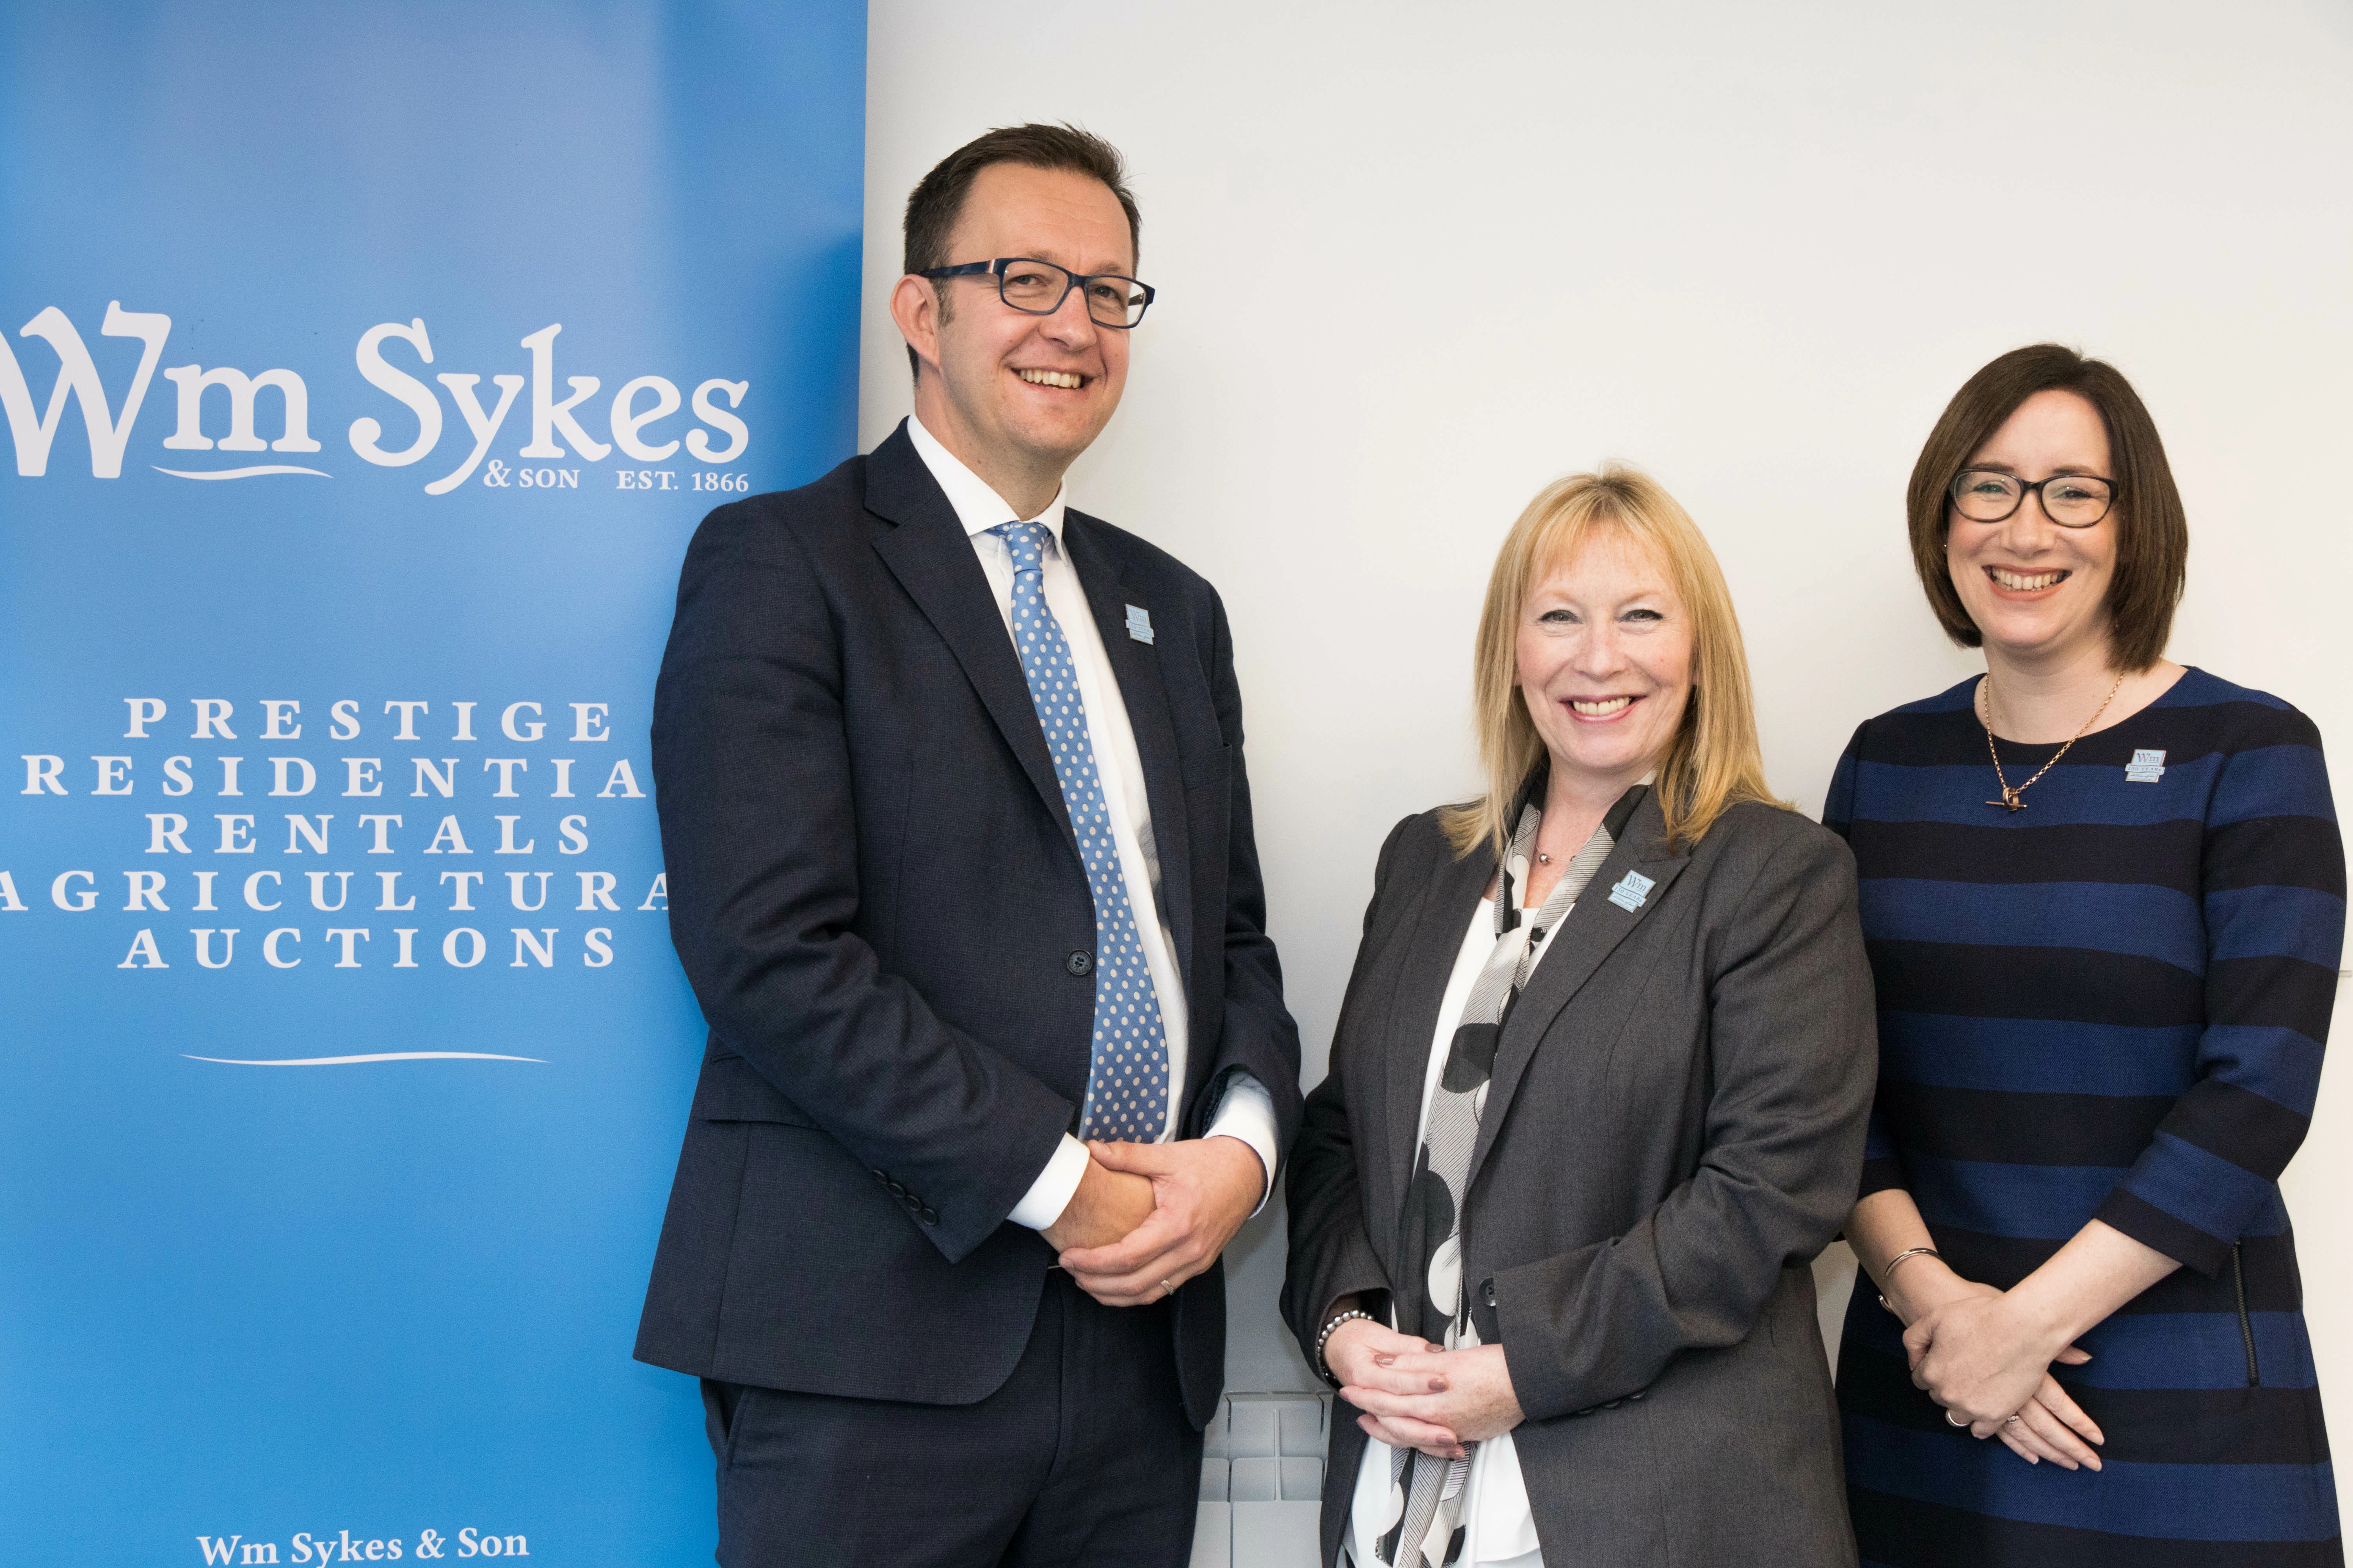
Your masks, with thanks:
[{"label": "dark grey blazer worn by the blonde woman", "polygon": [[[1635,910],[1607,898],[1628,870],[1654,882]],[[1435,811],[1381,849],[1287,1185],[1282,1314],[1311,1356],[1334,1298],[1388,1291],[1431,1034],[1492,877]],[[1847,846],[1744,804],[1671,853],[1645,799],[1504,1020],[1464,1201],[1548,1563],[1854,1563],[1807,1265],[1854,1204],[1875,1077]],[[1325,1563],[1367,1443],[1351,1415]]]}]

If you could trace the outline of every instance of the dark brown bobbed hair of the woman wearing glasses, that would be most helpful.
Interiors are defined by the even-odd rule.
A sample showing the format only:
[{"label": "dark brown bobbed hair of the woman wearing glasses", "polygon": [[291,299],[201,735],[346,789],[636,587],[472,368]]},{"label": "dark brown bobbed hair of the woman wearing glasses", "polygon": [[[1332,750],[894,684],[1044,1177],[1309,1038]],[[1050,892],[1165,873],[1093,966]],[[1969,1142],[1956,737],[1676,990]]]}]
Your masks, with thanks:
[{"label": "dark brown bobbed hair of the woman wearing glasses", "polygon": [[2118,670],[2146,670],[2165,654],[2174,607],[2188,576],[2191,524],[2181,510],[2174,470],[2148,407],[2122,371],[2087,360],[2061,343],[2012,348],[1969,376],[1944,407],[1927,447],[1913,465],[1906,510],[1911,512],[1913,567],[1946,637],[1965,649],[1981,646],[1984,632],[1960,604],[1946,564],[1953,527],[1951,484],[1979,447],[1993,440],[2019,404],[2035,393],[2075,393],[2108,428],[2108,463],[2115,468],[2115,578],[2108,583],[2108,651]]}]

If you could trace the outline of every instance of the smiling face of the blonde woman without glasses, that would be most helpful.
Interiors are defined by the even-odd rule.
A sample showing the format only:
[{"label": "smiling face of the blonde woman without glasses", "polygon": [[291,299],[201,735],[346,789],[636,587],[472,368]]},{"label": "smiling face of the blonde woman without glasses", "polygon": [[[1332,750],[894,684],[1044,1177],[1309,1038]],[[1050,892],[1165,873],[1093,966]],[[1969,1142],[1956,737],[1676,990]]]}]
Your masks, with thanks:
[{"label": "smiling face of the blonde woman without glasses", "polygon": [[1692,698],[1692,618],[1666,564],[1614,524],[1537,578],[1520,609],[1520,696],[1555,788],[1617,792],[1664,757]]}]

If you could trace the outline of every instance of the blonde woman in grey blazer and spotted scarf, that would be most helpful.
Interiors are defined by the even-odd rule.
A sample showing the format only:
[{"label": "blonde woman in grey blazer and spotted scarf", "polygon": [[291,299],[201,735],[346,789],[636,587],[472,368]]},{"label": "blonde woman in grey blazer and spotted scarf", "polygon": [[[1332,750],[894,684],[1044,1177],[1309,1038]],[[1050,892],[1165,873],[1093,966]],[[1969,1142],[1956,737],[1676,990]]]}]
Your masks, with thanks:
[{"label": "blonde woman in grey blazer and spotted scarf", "polygon": [[1322,1561],[1854,1563],[1807,1269],[1875,1074],[1854,863],[1767,792],[1664,489],[1527,505],[1473,703],[1487,792],[1381,846],[1292,1154]]}]

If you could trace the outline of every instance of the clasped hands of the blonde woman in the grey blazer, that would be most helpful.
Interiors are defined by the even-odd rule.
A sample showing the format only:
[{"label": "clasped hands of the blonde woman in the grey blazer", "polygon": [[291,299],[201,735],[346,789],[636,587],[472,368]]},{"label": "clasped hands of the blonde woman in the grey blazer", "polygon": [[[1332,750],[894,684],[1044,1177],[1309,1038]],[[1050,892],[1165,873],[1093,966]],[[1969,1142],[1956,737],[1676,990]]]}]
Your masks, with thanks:
[{"label": "clasped hands of the blonde woman in the grey blazer", "polygon": [[1459,1460],[1468,1453],[1464,1443],[1501,1436],[1525,1420],[1501,1345],[1440,1349],[1358,1319],[1332,1331],[1325,1366],[1341,1380],[1339,1396],[1362,1410],[1355,1425],[1391,1448]]}]

